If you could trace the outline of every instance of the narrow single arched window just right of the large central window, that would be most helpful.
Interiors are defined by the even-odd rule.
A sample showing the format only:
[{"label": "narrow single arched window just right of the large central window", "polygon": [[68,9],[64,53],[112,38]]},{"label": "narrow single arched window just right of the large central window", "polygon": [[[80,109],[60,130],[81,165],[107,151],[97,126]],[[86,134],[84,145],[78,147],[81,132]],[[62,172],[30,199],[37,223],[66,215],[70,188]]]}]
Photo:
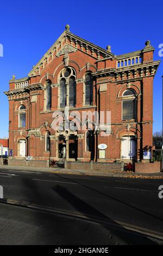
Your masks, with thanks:
[{"label": "narrow single arched window just right of the large central window", "polygon": [[93,81],[91,74],[85,75],[85,105],[91,105],[93,99]]}]

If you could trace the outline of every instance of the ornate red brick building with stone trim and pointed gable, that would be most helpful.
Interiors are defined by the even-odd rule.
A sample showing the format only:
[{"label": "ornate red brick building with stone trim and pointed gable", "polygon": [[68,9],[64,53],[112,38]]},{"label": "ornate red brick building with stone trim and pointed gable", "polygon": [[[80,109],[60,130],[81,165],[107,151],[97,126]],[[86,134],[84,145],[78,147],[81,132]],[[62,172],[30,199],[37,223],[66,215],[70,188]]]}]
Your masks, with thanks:
[{"label": "ornate red brick building with stone trim and pointed gable", "polygon": [[[33,66],[28,77],[9,81],[9,149],[12,157],[35,160],[140,161],[151,158],[153,79],[159,61],[147,41],[142,50],[116,56],[70,32],[64,33]],[[110,111],[105,124],[89,131],[71,121],[52,129],[54,111]],[[57,117],[58,118],[58,117]],[[101,117],[99,117],[101,118]],[[70,118],[70,120],[72,120]],[[82,123],[80,123],[82,124]]]}]

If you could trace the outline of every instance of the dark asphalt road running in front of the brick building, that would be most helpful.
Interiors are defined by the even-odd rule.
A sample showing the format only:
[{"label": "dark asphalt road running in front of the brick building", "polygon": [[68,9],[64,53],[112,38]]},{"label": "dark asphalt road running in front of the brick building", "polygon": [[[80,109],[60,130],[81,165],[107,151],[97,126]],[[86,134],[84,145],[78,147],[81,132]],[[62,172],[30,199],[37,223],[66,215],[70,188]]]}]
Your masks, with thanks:
[{"label": "dark asphalt road running in front of the brick building", "polygon": [[[156,242],[128,234],[120,223],[163,233],[163,199],[158,197],[163,180],[1,169],[0,185],[5,199],[54,210],[50,213],[0,203],[0,244]],[[116,229],[111,228],[115,223]]]}]

